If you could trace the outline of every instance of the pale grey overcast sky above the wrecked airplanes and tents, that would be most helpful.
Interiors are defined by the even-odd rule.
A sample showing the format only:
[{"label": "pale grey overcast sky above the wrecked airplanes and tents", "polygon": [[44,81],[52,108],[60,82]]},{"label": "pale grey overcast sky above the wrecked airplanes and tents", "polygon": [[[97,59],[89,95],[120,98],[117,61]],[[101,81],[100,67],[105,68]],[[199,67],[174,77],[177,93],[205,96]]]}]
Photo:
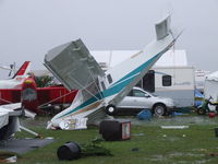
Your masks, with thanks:
[{"label": "pale grey overcast sky above the wrecked airplanes and tents", "polygon": [[169,11],[185,28],[175,48],[197,69],[218,70],[218,0],[0,0],[0,65],[44,69],[49,49],[77,38],[90,50],[142,49]]}]

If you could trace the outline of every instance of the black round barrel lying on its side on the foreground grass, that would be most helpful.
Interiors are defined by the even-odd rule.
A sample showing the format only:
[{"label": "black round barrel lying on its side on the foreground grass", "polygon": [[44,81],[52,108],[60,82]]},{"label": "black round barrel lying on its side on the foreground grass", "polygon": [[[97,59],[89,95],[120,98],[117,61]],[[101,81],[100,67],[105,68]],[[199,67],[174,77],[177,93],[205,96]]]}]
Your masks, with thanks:
[{"label": "black round barrel lying on its side on the foreground grass", "polygon": [[81,147],[76,142],[66,142],[58,149],[57,155],[59,160],[76,160],[81,156]]}]

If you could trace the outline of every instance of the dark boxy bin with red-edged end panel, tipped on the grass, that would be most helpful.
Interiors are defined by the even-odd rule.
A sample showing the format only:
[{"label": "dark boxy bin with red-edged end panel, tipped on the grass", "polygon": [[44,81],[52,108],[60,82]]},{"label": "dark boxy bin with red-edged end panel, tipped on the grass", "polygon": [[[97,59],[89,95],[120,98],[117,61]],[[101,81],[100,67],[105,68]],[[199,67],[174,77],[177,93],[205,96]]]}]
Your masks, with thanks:
[{"label": "dark boxy bin with red-edged end panel, tipped on the grass", "polygon": [[131,138],[131,121],[126,119],[102,120],[99,133],[106,141],[129,140]]}]

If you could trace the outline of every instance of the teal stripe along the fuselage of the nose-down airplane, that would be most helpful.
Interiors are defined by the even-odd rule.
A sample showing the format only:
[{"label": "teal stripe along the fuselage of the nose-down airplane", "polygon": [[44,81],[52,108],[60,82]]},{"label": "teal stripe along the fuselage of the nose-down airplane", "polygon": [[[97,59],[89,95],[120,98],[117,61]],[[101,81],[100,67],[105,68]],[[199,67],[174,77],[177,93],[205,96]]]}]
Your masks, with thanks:
[{"label": "teal stripe along the fuselage of the nose-down airplane", "polygon": [[[96,97],[92,97],[89,99],[87,99],[86,102],[84,102],[83,104],[78,105],[77,107],[75,107],[74,109],[70,110],[69,113],[58,117],[64,117],[66,115],[70,115],[74,112],[80,110],[81,108],[88,106],[95,102],[98,102],[105,97],[108,96],[112,96],[117,93],[119,93],[123,87],[125,87],[126,85],[129,85],[135,78],[135,74],[140,73],[143,69],[145,69],[146,67],[148,67],[156,58],[159,57],[159,55],[166,52],[169,48],[166,48],[165,50],[162,50],[161,52],[157,54],[155,57],[150,58],[149,60],[147,60],[146,62],[144,62],[143,65],[141,65],[138,68],[136,68],[135,70],[133,70],[132,72],[128,73],[125,77],[123,77],[122,79],[120,79],[119,81],[117,81],[116,83],[113,83],[109,89],[105,90],[101,93],[98,93],[96,95],[96,97],[98,97],[99,99],[97,99]],[[100,94],[102,95],[102,97],[100,96]]]}]

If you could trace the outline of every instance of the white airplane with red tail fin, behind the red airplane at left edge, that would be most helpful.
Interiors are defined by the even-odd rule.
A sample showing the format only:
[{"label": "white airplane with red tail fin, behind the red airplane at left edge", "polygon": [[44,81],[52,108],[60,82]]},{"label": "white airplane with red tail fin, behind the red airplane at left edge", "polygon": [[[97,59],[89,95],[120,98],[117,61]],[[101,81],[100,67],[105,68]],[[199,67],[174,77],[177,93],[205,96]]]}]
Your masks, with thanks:
[{"label": "white airplane with red tail fin, behind the red airplane at left edge", "polygon": [[21,89],[24,80],[29,77],[31,61],[25,61],[12,79],[0,80],[0,89]]}]

